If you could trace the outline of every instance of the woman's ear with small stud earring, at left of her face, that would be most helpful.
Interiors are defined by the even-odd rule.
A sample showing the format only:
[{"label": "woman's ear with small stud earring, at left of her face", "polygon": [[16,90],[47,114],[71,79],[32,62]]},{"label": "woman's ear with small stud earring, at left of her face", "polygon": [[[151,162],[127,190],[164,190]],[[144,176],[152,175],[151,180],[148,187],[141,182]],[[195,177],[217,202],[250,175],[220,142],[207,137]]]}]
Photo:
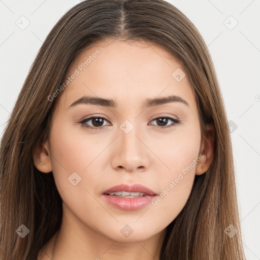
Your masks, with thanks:
[{"label": "woman's ear with small stud earring, at left of her face", "polygon": [[35,167],[40,172],[49,173],[52,171],[50,145],[48,140],[43,144],[38,144],[36,146],[33,156]]}]

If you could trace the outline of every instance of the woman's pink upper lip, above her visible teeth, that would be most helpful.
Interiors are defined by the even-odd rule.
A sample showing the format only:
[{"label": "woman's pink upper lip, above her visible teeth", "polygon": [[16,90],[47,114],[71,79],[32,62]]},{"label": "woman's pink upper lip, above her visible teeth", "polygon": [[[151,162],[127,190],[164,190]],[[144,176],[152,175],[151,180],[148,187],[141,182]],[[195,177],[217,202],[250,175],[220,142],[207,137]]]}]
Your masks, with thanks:
[{"label": "woman's pink upper lip, above her visible teeth", "polygon": [[156,193],[147,188],[146,186],[142,185],[142,184],[132,184],[132,185],[128,185],[128,184],[118,184],[115,185],[113,187],[111,187],[110,189],[106,190],[104,192],[104,194],[109,194],[111,192],[115,192],[115,191],[127,191],[127,192],[143,192],[146,193],[148,195],[156,195]]}]

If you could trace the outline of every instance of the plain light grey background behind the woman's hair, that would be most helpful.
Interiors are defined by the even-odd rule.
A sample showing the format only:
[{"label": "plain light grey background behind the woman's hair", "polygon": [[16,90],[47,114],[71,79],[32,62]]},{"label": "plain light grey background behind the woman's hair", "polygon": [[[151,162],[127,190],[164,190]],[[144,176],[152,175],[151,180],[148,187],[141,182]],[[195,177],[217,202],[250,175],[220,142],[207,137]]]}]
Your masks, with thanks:
[{"label": "plain light grey background behind the woman's hair", "polygon": [[[0,137],[48,32],[79,2],[0,0]],[[212,55],[232,121],[244,248],[247,259],[260,259],[260,1],[168,2],[196,25]],[[27,20],[24,29],[16,25],[25,26]]]}]

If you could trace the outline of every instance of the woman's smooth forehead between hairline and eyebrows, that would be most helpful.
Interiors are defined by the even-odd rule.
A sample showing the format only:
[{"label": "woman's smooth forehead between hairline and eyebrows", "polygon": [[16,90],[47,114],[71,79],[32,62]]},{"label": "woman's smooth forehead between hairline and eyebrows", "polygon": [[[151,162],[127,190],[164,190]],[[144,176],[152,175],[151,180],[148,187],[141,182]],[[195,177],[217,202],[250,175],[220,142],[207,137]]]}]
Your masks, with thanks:
[{"label": "woman's smooth forehead between hairline and eyebrows", "polygon": [[118,106],[127,102],[132,106],[132,102],[174,94],[195,105],[181,63],[165,49],[148,42],[95,43],[75,57],[66,79],[73,74],[77,76],[60,97],[63,108],[83,95],[113,99]]}]

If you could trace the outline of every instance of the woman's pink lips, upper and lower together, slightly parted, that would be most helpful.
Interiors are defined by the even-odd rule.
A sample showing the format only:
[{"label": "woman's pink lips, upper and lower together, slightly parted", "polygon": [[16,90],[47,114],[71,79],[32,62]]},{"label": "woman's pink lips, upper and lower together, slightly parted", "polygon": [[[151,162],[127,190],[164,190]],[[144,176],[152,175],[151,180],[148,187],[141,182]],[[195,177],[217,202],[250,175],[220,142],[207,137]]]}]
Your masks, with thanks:
[{"label": "woman's pink lips, upper and lower together, slightly parted", "polygon": [[[146,193],[147,196],[137,197],[137,198],[122,198],[117,196],[108,195],[114,191],[127,191],[127,192],[143,192]],[[102,194],[102,198],[105,199],[108,203],[118,209],[122,210],[138,210],[146,205],[148,205],[154,198],[156,194],[151,189],[145,187],[141,184],[127,185],[120,184],[113,186],[112,188],[106,190],[104,194]]]}]

